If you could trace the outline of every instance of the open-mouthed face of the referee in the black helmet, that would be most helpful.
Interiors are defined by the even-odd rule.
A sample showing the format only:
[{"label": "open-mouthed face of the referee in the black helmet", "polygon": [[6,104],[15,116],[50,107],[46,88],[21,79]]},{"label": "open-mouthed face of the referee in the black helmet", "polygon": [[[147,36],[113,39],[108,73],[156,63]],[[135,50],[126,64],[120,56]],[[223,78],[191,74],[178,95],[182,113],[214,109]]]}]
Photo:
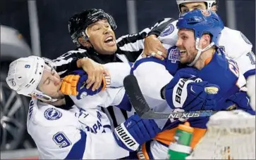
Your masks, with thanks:
[{"label": "open-mouthed face of the referee in the black helmet", "polygon": [[111,55],[116,52],[116,36],[106,19],[90,25],[87,28],[87,34],[97,53]]}]

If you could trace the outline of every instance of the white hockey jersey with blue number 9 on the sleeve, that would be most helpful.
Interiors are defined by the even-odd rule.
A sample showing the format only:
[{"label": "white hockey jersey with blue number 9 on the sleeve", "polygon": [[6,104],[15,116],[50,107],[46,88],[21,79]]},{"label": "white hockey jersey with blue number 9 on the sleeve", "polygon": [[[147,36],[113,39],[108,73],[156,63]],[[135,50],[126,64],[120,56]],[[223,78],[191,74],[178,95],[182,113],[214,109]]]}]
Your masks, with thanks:
[{"label": "white hockey jersey with blue number 9 on the sleeve", "polygon": [[75,105],[70,110],[36,99],[30,101],[28,133],[37,145],[39,159],[119,159],[128,156],[129,152],[114,140],[109,118],[100,109],[129,104],[124,88],[118,88],[123,84],[118,77],[123,79],[130,72],[128,64],[122,63],[119,67],[123,65],[126,69],[122,74],[108,66],[113,75],[111,84],[116,88],[107,88],[81,100],[71,96]]}]

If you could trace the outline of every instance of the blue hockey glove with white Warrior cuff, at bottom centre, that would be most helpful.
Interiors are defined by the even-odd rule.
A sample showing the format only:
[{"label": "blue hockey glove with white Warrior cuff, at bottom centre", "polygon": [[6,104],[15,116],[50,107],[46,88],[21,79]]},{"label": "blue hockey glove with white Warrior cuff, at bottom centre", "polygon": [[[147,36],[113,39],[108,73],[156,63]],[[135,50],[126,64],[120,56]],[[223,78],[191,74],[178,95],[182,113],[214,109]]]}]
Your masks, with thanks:
[{"label": "blue hockey glove with white Warrior cuff, at bottom centre", "polygon": [[141,119],[134,114],[115,128],[113,134],[116,142],[123,149],[133,152],[144,142],[151,140],[161,130],[152,119]]}]

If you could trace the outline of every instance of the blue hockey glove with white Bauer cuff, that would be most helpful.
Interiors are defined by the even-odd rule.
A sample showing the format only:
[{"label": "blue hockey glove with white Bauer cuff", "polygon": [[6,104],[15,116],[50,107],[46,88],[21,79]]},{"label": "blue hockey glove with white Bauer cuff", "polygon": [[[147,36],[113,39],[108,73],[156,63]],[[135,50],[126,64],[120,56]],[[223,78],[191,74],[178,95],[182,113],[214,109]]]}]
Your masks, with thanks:
[{"label": "blue hockey glove with white Bauer cuff", "polygon": [[172,109],[184,109],[185,112],[214,110],[216,108],[214,95],[218,93],[219,86],[209,84],[206,81],[196,83],[192,79],[195,79],[195,75],[191,72],[177,72],[175,74],[165,88],[165,98],[168,105]]}]

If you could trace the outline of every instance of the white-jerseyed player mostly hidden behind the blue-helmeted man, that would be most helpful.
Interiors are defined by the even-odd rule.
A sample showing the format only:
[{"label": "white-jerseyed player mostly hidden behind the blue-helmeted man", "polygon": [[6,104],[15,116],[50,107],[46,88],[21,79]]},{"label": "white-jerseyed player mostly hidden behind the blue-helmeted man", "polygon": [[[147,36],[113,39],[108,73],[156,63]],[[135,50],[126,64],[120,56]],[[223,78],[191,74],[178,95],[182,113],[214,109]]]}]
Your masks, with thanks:
[{"label": "white-jerseyed player mostly hidden behind the blue-helmeted man", "polygon": [[[176,0],[176,3],[180,15],[196,9],[217,11],[218,5],[216,0]],[[166,18],[165,20],[168,19],[169,18]],[[177,22],[178,20],[173,21],[173,19],[170,18],[169,25],[167,25],[164,32],[161,32],[158,36],[159,41],[161,41],[167,49],[176,44],[178,38]],[[239,46],[239,48],[234,48],[233,46]],[[228,57],[233,58],[233,60],[237,62],[245,79],[255,74],[255,54],[252,53],[252,44],[242,32],[224,27],[219,38],[219,48],[221,48]],[[192,65],[193,64],[190,64],[190,66]]]}]

